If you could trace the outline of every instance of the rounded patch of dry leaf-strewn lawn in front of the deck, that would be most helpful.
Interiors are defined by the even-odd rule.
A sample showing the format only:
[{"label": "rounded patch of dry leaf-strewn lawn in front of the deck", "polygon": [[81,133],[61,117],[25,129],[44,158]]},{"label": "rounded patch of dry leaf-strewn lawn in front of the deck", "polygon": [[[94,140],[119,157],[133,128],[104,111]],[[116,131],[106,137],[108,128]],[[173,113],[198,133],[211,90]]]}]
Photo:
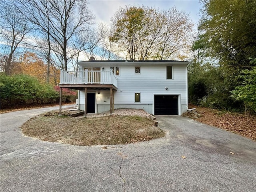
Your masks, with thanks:
[{"label": "rounded patch of dry leaf-strewn lawn in front of the deck", "polygon": [[129,144],[165,136],[150,118],[133,115],[73,118],[51,112],[28,120],[21,129],[26,136],[43,141],[82,146]]}]

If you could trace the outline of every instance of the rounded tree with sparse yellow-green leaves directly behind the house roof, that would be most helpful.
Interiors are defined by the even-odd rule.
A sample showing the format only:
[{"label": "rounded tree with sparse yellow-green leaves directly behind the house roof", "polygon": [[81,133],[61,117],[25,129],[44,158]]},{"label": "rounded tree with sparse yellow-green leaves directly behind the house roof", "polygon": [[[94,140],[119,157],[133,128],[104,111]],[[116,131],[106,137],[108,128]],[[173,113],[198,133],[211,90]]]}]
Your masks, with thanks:
[{"label": "rounded tree with sparse yellow-green leaves directly behind the house roof", "polygon": [[111,42],[130,60],[177,58],[189,49],[193,23],[175,7],[168,11],[146,6],[120,7],[111,19]]}]

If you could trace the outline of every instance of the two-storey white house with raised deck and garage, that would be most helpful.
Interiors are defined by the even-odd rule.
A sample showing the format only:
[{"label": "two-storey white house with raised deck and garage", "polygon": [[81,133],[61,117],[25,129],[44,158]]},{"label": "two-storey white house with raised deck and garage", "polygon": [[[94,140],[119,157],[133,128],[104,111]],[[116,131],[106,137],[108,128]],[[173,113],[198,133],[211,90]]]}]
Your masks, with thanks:
[{"label": "two-storey white house with raised deck and garage", "polygon": [[109,110],[112,113],[118,108],[143,109],[154,115],[181,115],[188,109],[188,63],[83,61],[77,63],[78,71],[61,71],[59,86],[79,90],[79,109],[85,115]]}]

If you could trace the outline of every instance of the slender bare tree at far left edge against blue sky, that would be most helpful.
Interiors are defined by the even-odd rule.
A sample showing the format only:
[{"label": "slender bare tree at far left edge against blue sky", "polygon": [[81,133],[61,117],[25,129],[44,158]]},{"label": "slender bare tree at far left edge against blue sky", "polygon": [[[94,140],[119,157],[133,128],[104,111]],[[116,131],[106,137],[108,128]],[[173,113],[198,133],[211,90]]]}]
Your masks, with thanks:
[{"label": "slender bare tree at far left edge against blue sky", "polygon": [[5,55],[3,70],[6,74],[11,74],[11,64],[14,52],[20,47],[25,40],[26,34],[32,30],[32,26],[26,18],[19,12],[14,11],[14,6],[8,0],[1,0],[0,15],[0,38],[1,46]]}]

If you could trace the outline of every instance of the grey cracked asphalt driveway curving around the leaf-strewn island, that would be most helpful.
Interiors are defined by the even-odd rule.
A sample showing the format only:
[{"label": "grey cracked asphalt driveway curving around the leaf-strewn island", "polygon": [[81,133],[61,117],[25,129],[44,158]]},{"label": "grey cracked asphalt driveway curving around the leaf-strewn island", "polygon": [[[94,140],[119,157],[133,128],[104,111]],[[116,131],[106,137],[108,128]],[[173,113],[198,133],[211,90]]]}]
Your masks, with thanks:
[{"label": "grey cracked asphalt driveway curving around the leaf-strewn island", "polygon": [[165,138],[107,149],[22,135],[22,123],[51,109],[0,115],[1,192],[256,190],[256,142],[242,136],[180,116],[157,116]]}]

